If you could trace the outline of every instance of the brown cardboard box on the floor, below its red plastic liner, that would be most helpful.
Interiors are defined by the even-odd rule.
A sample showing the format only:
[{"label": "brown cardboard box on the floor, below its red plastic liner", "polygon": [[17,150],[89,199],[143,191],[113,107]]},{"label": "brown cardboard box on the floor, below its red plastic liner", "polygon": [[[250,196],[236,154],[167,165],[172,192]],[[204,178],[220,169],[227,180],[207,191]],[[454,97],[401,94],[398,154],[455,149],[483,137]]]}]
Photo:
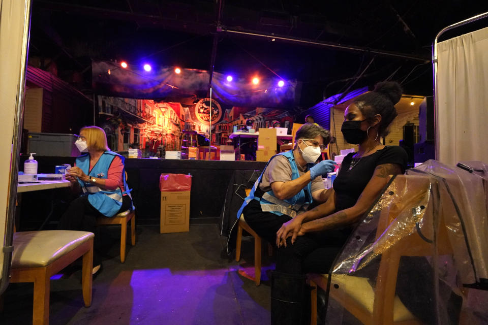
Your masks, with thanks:
[{"label": "brown cardboard box on the floor, below its red plastic liner", "polygon": [[190,231],[190,191],[161,192],[160,233]]}]

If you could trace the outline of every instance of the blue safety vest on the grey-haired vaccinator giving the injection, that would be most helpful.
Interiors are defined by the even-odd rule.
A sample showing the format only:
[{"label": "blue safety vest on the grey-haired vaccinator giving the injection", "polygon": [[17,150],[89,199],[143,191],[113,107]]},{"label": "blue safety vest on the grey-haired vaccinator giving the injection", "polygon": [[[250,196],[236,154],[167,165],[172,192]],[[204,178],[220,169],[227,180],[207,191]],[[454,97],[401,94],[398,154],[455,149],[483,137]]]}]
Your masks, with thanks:
[{"label": "blue safety vest on the grey-haired vaccinator giving the injection", "polygon": [[[282,152],[277,155],[274,155],[269,159],[271,161],[273,158],[275,158],[278,155],[283,155],[288,158],[288,161],[290,163],[291,167],[291,179],[297,179],[300,177],[300,174],[298,173],[298,168],[295,163],[295,157],[293,156],[293,151],[287,151],[287,152]],[[273,193],[272,190],[269,190],[267,192],[264,192],[261,197],[256,197],[255,192],[256,189],[258,188],[259,184],[261,183],[261,179],[263,177],[263,173],[266,171],[266,168],[269,165],[269,161],[264,167],[263,172],[259,176],[259,178],[256,180],[254,183],[253,188],[251,189],[251,192],[249,193],[249,196],[244,199],[244,202],[242,203],[239,211],[237,212],[237,219],[240,218],[240,215],[242,214],[242,210],[244,207],[246,207],[251,200],[257,200],[261,204],[261,209],[263,212],[271,212],[276,215],[282,215],[286,214],[292,218],[294,218],[297,214],[297,212],[300,210],[300,208],[304,207],[305,205],[308,205],[312,203],[312,185],[311,182],[307,184],[305,188],[307,188],[307,193],[306,191],[302,188],[298,193],[296,193],[293,197],[286,199],[286,200],[280,200],[277,197],[275,197],[275,193]]]}]

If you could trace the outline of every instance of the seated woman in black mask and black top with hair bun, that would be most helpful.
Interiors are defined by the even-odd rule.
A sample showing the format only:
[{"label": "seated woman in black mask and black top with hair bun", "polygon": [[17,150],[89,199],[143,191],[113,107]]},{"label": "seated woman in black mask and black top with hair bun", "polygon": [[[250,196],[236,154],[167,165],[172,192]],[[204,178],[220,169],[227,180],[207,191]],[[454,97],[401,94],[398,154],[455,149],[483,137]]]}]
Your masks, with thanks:
[{"label": "seated woman in black mask and black top with hair bun", "polygon": [[398,83],[378,83],[373,91],[359,96],[344,112],[341,131],[348,143],[359,145],[358,151],[344,158],[329,199],[284,223],[277,232],[277,246],[293,249],[286,263],[277,261],[278,272],[271,282],[271,291],[281,294],[271,300],[272,318],[273,315],[278,318],[272,323],[287,323],[290,319],[299,323],[304,314],[294,306],[302,303],[302,310],[308,307],[299,301],[300,298],[288,295],[287,290],[273,289],[273,285],[300,287],[304,285],[305,273],[328,273],[353,225],[387,184],[388,175],[405,172],[405,150],[380,143],[398,115],[394,105],[401,95]]}]

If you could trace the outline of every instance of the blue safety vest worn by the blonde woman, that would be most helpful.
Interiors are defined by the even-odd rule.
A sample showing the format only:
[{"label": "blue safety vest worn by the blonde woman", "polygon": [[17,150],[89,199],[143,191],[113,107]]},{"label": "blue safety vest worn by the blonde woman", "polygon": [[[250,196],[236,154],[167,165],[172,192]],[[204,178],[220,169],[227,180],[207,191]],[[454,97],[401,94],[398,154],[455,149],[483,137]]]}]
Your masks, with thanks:
[{"label": "blue safety vest worn by the blonde woman", "polygon": [[[124,164],[124,157],[112,152],[112,151],[105,151],[98,159],[95,166],[89,171],[90,168],[90,155],[88,153],[82,154],[76,157],[76,166],[81,168],[83,173],[88,176],[96,177],[96,178],[107,178],[108,169],[110,164],[112,164],[112,160],[115,156],[119,156],[122,159],[122,164]],[[102,189],[90,182],[83,182],[82,180],[78,179],[78,182],[81,185],[81,189],[83,190],[83,195],[88,196],[88,201],[90,204],[100,211],[104,216],[112,217],[115,215],[120,207],[122,206],[122,196],[123,194],[128,194],[130,197],[130,189],[127,186],[126,182],[126,173],[125,169],[123,170],[122,177],[124,179],[124,188],[125,191],[122,192],[120,187],[117,186],[114,190],[109,189]]]}]

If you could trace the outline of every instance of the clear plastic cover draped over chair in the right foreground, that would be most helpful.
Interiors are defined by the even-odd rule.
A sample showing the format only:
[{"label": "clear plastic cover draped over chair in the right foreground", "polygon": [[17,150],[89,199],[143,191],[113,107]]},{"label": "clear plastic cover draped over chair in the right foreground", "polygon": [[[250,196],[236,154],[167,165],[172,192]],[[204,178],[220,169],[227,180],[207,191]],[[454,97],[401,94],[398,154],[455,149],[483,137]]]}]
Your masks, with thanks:
[{"label": "clear plastic cover draped over chair in the right foreground", "polygon": [[484,323],[485,177],[429,160],[392,178],[323,277],[325,323]]}]

